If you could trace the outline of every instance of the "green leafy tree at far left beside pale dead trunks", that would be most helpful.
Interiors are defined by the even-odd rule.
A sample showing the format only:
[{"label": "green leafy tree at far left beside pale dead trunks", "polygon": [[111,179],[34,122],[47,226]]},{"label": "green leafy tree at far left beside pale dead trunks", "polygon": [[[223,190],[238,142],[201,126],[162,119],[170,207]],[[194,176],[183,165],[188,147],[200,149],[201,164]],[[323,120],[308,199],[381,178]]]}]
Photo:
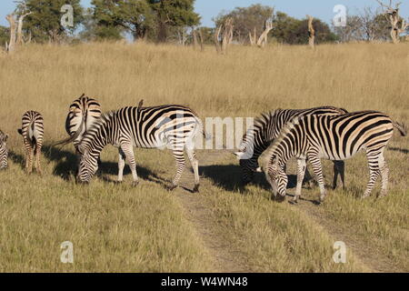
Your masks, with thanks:
[{"label": "green leafy tree at far left beside pale dead trunks", "polygon": [[[74,8],[74,22],[72,27],[63,27],[61,12],[63,5]],[[22,15],[30,11],[25,17],[24,30],[31,32],[36,42],[48,40],[57,41],[59,38],[73,33],[83,19],[83,7],[80,0],[24,0],[17,5],[17,14]]]}]

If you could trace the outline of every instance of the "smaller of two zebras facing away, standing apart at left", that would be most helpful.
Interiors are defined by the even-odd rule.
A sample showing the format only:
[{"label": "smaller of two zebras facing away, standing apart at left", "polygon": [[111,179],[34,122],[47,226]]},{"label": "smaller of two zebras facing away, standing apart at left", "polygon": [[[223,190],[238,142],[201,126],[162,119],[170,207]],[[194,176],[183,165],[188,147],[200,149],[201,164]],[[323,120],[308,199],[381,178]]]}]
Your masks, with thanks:
[{"label": "smaller of two zebras facing away, standing apart at left", "polygon": [[33,158],[35,158],[35,169],[42,174],[40,165],[41,147],[43,146],[44,125],[43,116],[33,110],[25,112],[22,117],[22,126],[17,132],[23,136],[25,142],[25,171],[33,171]]}]

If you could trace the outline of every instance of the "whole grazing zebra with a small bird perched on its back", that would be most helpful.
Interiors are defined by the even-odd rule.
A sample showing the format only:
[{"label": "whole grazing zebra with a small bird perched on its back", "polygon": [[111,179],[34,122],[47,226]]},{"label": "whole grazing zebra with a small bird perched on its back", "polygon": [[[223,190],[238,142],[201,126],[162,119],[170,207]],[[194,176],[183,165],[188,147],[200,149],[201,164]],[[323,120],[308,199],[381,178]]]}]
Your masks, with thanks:
[{"label": "whole grazing zebra with a small bird perched on its back", "polygon": [[77,179],[89,182],[97,169],[96,158],[107,145],[119,147],[118,181],[123,180],[125,158],[131,167],[134,179],[136,175],[133,147],[164,148],[171,146],[176,161],[176,174],[171,189],[177,186],[185,167],[184,150],[195,172],[194,192],[199,190],[198,162],[195,156],[195,137],[203,133],[201,120],[184,105],[159,105],[154,107],[124,107],[104,114],[85,133],[78,147],[83,154]]}]

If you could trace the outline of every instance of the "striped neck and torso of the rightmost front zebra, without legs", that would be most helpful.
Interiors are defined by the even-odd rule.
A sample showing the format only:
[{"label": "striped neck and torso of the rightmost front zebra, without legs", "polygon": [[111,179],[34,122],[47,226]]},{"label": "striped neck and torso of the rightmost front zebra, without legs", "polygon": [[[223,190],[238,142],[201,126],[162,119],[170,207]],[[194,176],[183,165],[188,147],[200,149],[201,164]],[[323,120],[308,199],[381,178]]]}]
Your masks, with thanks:
[{"label": "striped neck and torso of the rightmost front zebra, without legs", "polygon": [[377,111],[297,116],[264,151],[262,168],[266,169],[274,156],[281,156],[285,163],[292,156],[312,151],[330,160],[347,159],[361,149],[378,151],[386,146],[394,127],[388,115]]}]

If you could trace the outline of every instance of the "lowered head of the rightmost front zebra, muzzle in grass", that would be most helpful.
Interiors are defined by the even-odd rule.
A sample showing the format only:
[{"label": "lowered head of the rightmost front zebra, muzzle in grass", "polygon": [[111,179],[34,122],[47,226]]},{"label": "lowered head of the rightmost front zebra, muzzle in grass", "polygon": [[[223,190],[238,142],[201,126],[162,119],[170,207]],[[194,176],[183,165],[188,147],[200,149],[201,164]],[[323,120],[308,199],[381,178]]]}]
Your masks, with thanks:
[{"label": "lowered head of the rightmost front zebra, muzzle in grass", "polygon": [[270,164],[264,169],[264,172],[268,183],[273,188],[273,198],[282,200],[285,197],[288,177],[276,156],[272,157]]}]

